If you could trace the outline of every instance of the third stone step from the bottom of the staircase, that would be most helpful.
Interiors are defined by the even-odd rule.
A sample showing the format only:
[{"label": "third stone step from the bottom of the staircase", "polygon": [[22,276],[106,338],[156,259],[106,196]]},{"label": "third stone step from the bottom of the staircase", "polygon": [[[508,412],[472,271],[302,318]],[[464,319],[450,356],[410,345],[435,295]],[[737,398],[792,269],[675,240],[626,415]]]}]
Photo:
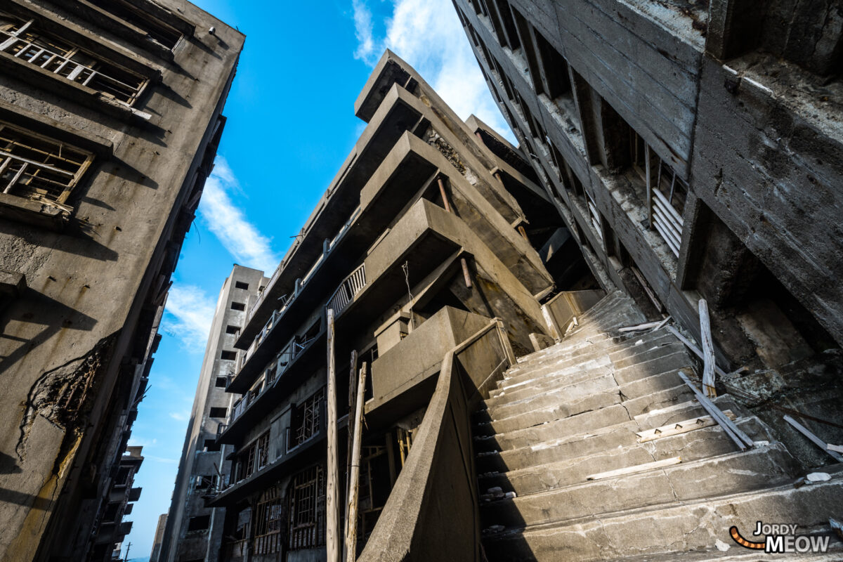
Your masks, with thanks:
[{"label": "third stone step from the bottom of the staircase", "polygon": [[[737,425],[756,442],[771,441],[770,433],[758,418],[741,419]],[[720,426],[708,426],[644,443],[637,442],[634,431],[626,431],[626,435],[618,435],[617,432],[609,435],[615,436],[615,447],[583,452],[576,457],[557,457],[555,462],[550,463],[531,464],[529,462],[534,460],[534,456],[502,454],[507,471],[482,475],[478,479],[480,489],[500,486],[504,491],[514,491],[521,496],[584,482],[589,474],[673,457],[681,457],[683,463],[688,463],[737,450]],[[574,451],[572,447],[563,448],[567,448],[569,453]]]}]

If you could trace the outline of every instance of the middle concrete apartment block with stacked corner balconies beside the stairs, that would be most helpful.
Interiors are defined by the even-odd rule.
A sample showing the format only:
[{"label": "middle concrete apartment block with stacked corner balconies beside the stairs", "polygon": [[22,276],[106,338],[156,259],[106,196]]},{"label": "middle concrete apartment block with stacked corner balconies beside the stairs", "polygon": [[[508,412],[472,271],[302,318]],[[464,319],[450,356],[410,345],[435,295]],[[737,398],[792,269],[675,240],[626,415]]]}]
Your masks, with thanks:
[{"label": "middle concrete apartment block with stacked corner balconies beside the stairs", "polygon": [[366,129],[250,300],[234,344],[227,391],[240,398],[217,437],[234,446],[233,468],[207,504],[225,508],[222,560],[325,557],[327,518],[336,515],[325,506],[328,309],[341,480],[350,373],[363,363],[370,373],[362,549],[405,469],[446,353],[471,339],[461,376],[484,388],[515,353],[548,340],[540,299],[555,279],[546,264],[567,286],[596,286],[522,153],[479,120],[459,120],[393,53],[375,67],[356,113]]}]

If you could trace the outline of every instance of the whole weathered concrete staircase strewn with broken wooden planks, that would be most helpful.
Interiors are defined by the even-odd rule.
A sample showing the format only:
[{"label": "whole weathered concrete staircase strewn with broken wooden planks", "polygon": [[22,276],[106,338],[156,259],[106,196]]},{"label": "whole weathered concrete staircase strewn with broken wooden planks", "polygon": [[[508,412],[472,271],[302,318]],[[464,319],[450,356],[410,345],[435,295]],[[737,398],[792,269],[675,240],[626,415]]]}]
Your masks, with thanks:
[{"label": "whole weathered concrete staircase strewn with broken wooden planks", "polygon": [[[843,467],[794,486],[803,474],[790,453],[728,395],[715,402],[754,440],[749,450],[716,424],[639,442],[637,432],[706,415],[677,375],[695,369],[673,335],[617,331],[645,321],[630,298],[610,294],[561,343],[521,357],[475,413],[490,562],[776,559],[735,543],[729,527],[763,540],[752,535],[757,521],[830,534],[829,517],[843,517]],[[636,471],[588,479],[621,468]],[[778,559],[843,559],[843,543],[830,543],[829,554]]]}]

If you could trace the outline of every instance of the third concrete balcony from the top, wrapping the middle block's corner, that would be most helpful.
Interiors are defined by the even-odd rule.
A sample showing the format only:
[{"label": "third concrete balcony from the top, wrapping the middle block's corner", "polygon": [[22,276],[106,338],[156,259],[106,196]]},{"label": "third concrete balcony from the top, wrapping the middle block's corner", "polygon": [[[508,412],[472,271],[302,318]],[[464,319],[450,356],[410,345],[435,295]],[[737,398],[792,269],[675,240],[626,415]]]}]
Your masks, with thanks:
[{"label": "third concrete balcony from the top, wrapping the middle block's corner", "polygon": [[[395,95],[409,94],[395,89]],[[412,100],[418,101],[412,98],[407,103]],[[421,197],[438,198],[435,177],[448,185],[451,206],[464,224],[480,235],[482,242],[524,282],[531,294],[550,286],[552,280],[538,253],[487,201],[485,190],[470,185],[438,150],[405,132],[360,191],[360,206],[354,220],[330,244],[330,249],[319,256],[292,300],[282,310],[272,313],[257,333],[237,376],[229,383],[228,392],[245,393],[250,388],[273,361],[277,350],[300,328],[288,318],[306,317],[314,307],[324,303],[329,291],[341,286],[334,280],[351,275],[354,265],[351,260],[359,259],[356,256],[365,254],[386,234],[389,222],[408,203]],[[370,270],[365,272],[367,278],[373,278]]]}]

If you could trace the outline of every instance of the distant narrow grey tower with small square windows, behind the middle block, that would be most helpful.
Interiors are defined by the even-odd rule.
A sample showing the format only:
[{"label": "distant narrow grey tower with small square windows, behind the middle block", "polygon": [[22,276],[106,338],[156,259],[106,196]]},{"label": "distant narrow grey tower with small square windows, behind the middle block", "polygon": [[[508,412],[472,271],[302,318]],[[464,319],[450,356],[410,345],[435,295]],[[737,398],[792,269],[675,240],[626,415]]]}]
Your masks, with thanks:
[{"label": "distant narrow grey tower with small square windows, behind the middle block", "polygon": [[205,501],[221,490],[231,472],[228,453],[232,447],[217,444],[235,400],[225,388],[234,374],[234,341],[245,324],[246,303],[254,300],[266,281],[262,271],[234,265],[220,290],[162,532],[160,562],[218,559],[225,510],[206,507]]}]

